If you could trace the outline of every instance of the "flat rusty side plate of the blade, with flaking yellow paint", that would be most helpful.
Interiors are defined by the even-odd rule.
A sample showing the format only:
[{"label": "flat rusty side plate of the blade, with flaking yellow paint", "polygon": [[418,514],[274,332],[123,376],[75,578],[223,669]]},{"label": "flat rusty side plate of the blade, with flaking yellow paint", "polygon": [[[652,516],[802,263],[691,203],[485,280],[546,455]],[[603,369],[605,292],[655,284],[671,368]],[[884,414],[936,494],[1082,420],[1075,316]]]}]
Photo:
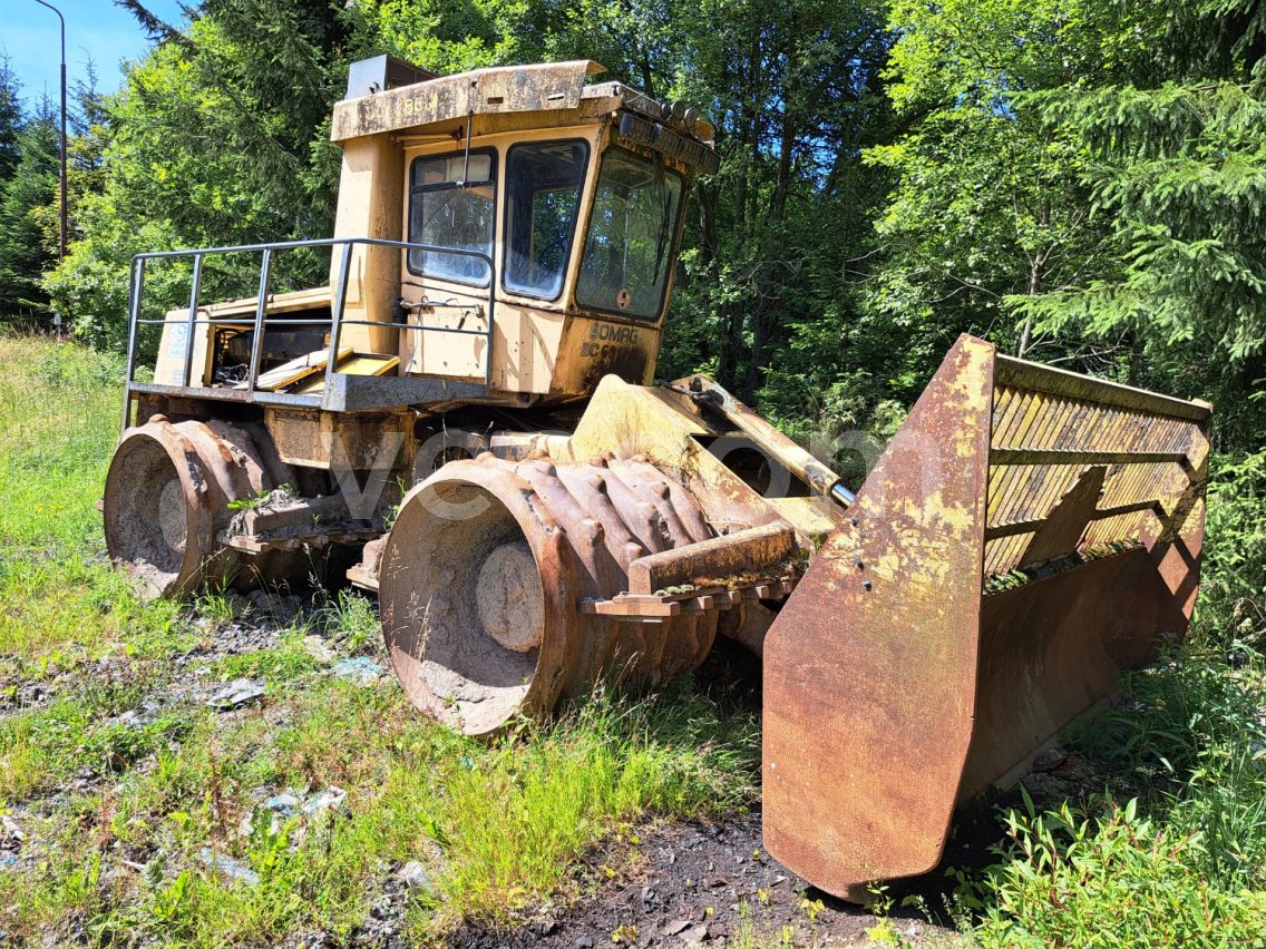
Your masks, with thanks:
[{"label": "flat rusty side plate of the blade, with flaking yellow paint", "polygon": [[925,871],[944,843],[975,705],[991,356],[951,350],[765,642],[766,847],[832,893]]}]

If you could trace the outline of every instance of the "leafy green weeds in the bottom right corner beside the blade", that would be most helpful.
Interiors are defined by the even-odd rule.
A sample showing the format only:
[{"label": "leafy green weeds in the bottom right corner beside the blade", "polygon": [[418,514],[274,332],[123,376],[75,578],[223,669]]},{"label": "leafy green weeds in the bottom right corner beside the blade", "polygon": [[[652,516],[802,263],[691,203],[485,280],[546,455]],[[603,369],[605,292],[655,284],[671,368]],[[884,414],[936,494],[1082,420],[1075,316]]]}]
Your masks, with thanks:
[{"label": "leafy green weeds in the bottom right corner beside the blade", "polygon": [[[1266,663],[1196,642],[1074,730],[1106,798],[1006,816],[977,935],[1006,945],[1253,944],[1266,924]],[[1128,798],[1120,806],[1118,800]]]}]

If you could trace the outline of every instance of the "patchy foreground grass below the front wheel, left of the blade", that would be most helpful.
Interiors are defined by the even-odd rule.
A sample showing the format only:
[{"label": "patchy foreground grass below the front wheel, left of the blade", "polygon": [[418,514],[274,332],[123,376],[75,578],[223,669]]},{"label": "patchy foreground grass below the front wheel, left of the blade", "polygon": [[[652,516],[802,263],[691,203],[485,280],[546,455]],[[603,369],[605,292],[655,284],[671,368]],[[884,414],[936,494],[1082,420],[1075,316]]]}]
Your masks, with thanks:
[{"label": "patchy foreground grass below the front wheel, left of the blade", "polygon": [[[598,693],[567,723],[524,724],[530,734],[494,747],[422,720],[394,686],[337,679],[230,728],[203,715],[179,735],[160,721],[122,749],[86,719],[84,707],[25,716],[33,744],[49,748],[46,776],[67,760],[65,744],[44,738],[52,731],[89,735],[91,750],[75,760],[114,755],[123,771],[111,787],[35,825],[52,841],[41,871],[6,895],[13,906],[0,919],[20,909],[4,919],[10,933],[56,933],[77,916],[100,939],[267,943],[304,927],[346,938],[384,868],[420,859],[434,888],[411,907],[409,926],[419,940],[438,939],[461,919],[506,919],[557,893],[571,863],[622,821],[719,812],[753,792],[751,759],[734,750],[749,724],[734,747],[717,744],[727,725],[693,692],[672,701]],[[275,728],[277,719],[286,724]],[[128,769],[144,754],[144,767]],[[256,820],[243,833],[263,803],[257,790],[284,787],[346,788],[347,810],[271,833]],[[68,821],[67,810],[78,816]],[[85,833],[101,860],[122,850],[142,869],[103,890],[90,878],[97,867],[80,859]],[[199,863],[208,847],[257,873],[258,884],[232,883]]]}]

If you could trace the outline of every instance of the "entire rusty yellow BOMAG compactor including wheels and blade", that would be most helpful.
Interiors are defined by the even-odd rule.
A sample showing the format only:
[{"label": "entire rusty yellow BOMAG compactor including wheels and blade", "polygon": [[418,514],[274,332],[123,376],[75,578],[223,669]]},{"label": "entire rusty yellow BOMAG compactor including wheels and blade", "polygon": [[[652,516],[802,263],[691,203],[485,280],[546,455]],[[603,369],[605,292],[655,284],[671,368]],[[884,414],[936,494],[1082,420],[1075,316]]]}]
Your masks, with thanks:
[{"label": "entire rusty yellow BOMAG compactor including wheels and blade", "polygon": [[[110,554],[156,595],[346,572],[411,701],[476,735],[733,638],[771,853],[843,896],[923,873],[957,803],[1184,634],[1209,406],[962,337],[855,495],[710,378],[652,386],[718,158],[601,71],[356,63],[332,238],[138,256]],[[296,252],[328,285],[273,292]],[[257,292],[204,301],[227,254]],[[189,304],[149,316],[173,261]]]}]

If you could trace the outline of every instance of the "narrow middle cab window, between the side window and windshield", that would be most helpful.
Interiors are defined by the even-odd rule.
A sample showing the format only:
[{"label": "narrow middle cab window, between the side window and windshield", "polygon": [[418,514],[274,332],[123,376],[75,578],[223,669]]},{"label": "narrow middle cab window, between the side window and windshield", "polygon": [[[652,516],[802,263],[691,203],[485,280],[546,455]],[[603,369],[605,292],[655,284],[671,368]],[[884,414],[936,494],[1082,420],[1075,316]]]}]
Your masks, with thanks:
[{"label": "narrow middle cab window, between the side window and windshield", "polygon": [[556,300],[562,292],[580,186],[585,180],[585,142],[515,146],[505,159],[506,290]]}]

